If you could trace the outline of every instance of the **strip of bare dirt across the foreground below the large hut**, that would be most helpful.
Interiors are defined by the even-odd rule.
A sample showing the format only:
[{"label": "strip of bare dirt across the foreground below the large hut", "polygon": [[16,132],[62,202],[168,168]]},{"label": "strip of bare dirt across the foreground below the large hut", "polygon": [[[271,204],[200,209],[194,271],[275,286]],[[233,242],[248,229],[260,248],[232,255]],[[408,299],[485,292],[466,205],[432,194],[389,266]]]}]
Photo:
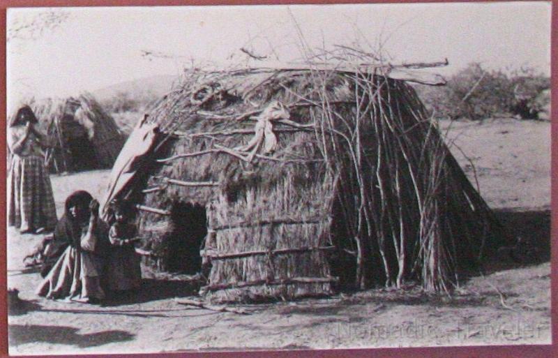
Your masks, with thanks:
[{"label": "strip of bare dirt across the foreground below the large hut", "polygon": [[[243,306],[250,315],[183,306],[174,298],[189,293],[183,287],[179,292],[177,286],[182,283],[161,297],[152,293],[161,289],[158,283],[146,283],[142,290],[151,293],[139,294],[133,303],[123,299],[107,306],[47,301],[25,290],[21,297],[29,311],[10,316],[10,352],[548,343],[549,272],[549,264],[541,264],[475,278],[453,299],[418,291],[370,290],[329,299]],[[18,280],[20,287],[36,286],[37,276],[24,275]],[[498,290],[506,296],[505,306]]]}]

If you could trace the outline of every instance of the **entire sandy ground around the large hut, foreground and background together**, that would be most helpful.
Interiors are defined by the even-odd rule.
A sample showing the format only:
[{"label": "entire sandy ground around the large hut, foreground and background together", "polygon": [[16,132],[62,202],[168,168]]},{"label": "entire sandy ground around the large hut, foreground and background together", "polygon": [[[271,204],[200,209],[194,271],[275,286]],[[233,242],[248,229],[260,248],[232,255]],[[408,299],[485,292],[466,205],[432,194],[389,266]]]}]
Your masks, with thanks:
[{"label": "entire sandy ground around the large hut, foreground and background together", "polygon": [[[36,297],[40,277],[22,258],[40,237],[10,228],[8,287],[25,301],[8,317],[10,354],[550,343],[550,124],[442,123],[448,127],[448,140],[467,156],[452,148],[469,177],[476,172],[488,204],[529,243],[524,264],[497,258],[490,274],[470,279],[451,298],[417,288],[368,290],[244,305],[250,314],[238,315],[179,304],[193,298],[192,283],[144,278],[139,292],[93,306]],[[108,175],[52,176],[59,213],[76,189],[99,197]]]}]

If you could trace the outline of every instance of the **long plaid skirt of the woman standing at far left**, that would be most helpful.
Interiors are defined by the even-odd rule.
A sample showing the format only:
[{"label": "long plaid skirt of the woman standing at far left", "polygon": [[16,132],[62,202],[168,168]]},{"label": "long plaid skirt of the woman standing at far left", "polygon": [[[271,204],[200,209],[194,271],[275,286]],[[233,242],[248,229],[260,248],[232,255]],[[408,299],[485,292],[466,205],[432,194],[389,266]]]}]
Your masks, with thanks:
[{"label": "long plaid skirt of the woman standing at far left", "polygon": [[56,207],[40,156],[13,156],[8,174],[8,225],[20,230],[53,229]]}]

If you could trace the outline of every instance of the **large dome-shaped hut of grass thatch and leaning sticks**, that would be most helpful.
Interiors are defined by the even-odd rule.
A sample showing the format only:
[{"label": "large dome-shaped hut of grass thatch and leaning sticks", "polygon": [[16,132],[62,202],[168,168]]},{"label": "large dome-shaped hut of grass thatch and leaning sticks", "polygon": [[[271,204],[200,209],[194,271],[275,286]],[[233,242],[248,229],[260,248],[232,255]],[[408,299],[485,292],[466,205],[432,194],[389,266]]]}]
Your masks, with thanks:
[{"label": "large dome-shaped hut of grass thatch and leaning sticks", "polygon": [[404,281],[448,290],[478,267],[495,222],[400,79],[414,77],[382,66],[193,71],[146,115],[156,140],[110,198],[137,203],[151,248],[202,244],[203,291],[218,300]]}]

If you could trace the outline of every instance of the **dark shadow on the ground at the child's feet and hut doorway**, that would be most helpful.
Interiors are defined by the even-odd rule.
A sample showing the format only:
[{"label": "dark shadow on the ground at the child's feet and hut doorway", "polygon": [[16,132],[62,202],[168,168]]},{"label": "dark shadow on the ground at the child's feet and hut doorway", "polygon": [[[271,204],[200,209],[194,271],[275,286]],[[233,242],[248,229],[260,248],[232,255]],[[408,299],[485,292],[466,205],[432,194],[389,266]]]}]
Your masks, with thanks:
[{"label": "dark shadow on the ground at the child's feet and hut doorway", "polygon": [[174,297],[197,296],[201,286],[199,281],[165,281],[144,278],[142,287],[128,292],[110,292],[104,306],[121,306],[126,304],[141,304],[159,299]]}]

